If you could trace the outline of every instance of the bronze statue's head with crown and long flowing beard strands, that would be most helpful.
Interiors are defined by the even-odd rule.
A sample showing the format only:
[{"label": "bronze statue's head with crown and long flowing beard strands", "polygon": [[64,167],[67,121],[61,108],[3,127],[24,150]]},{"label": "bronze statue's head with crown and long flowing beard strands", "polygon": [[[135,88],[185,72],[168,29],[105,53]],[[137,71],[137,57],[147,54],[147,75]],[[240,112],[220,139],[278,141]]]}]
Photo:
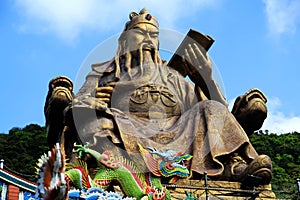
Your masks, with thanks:
[{"label": "bronze statue's head with crown and long flowing beard strands", "polygon": [[138,66],[142,71],[143,61],[146,57],[152,59],[156,65],[162,64],[158,54],[159,28],[156,18],[144,8],[140,13],[131,12],[129,19],[120,35],[115,55],[116,77],[120,77],[122,69],[125,69],[124,71],[127,71],[130,77],[131,68]]}]

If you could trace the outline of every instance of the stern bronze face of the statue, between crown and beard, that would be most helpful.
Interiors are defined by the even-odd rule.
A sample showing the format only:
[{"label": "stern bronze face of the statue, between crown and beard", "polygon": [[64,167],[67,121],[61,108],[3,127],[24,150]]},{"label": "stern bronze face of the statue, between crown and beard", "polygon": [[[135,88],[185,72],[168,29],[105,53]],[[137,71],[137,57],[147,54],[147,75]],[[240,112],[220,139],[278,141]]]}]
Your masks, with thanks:
[{"label": "stern bronze face of the statue, between crown and beard", "polygon": [[151,24],[137,24],[128,30],[126,41],[129,51],[139,50],[141,45],[146,51],[158,49],[158,29]]}]

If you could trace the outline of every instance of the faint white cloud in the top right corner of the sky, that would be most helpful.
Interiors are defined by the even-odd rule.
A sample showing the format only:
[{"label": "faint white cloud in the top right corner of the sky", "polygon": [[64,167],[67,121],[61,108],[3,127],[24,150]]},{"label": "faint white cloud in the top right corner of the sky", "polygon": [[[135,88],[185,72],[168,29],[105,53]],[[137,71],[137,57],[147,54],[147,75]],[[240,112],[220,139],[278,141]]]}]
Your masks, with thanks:
[{"label": "faint white cloud in the top right corner of the sky", "polygon": [[263,0],[269,30],[273,35],[293,34],[300,23],[299,0]]}]

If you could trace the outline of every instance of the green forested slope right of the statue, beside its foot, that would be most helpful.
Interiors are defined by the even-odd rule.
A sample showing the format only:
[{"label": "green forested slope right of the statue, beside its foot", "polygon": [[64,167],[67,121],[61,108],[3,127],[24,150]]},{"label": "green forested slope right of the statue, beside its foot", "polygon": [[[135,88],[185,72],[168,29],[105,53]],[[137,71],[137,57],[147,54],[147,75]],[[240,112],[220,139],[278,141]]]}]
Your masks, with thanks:
[{"label": "green forested slope right of the statue, beside its foot", "polygon": [[258,154],[266,154],[272,159],[271,184],[276,196],[290,199],[297,191],[296,178],[300,178],[300,133],[277,135],[259,131],[252,134],[250,140]]}]

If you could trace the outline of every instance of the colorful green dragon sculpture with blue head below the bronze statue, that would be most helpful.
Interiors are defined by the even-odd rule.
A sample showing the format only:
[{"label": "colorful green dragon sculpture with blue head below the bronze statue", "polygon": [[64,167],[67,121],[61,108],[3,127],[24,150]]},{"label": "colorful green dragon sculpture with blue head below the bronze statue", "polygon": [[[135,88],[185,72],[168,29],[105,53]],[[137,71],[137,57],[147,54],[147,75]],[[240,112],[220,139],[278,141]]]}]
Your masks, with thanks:
[{"label": "colorful green dragon sculpture with blue head below the bronze statue", "polygon": [[[40,190],[37,194],[47,199],[55,199],[53,195],[61,196],[56,199],[66,199],[67,191],[73,187],[80,191],[90,191],[92,188],[101,189],[104,193],[114,185],[119,185],[127,199],[153,199],[153,200],[167,200],[171,199],[170,192],[162,186],[161,179],[163,177],[170,177],[170,182],[176,181],[178,178],[185,178],[189,176],[187,168],[192,156],[189,154],[176,153],[175,151],[158,151],[155,148],[148,147],[144,149],[141,145],[140,152],[143,157],[145,168],[141,170],[134,165],[134,162],[125,159],[124,157],[114,157],[111,152],[105,151],[103,153],[96,152],[88,148],[88,145],[74,145],[74,153],[77,155],[70,163],[65,165],[61,158],[64,156],[57,156],[54,158],[42,157],[40,163],[40,177],[49,182],[52,177],[55,181],[55,186],[43,183],[42,178],[39,179]],[[52,155],[63,154],[62,150],[56,145],[56,150],[52,150]],[[55,153],[56,152],[56,153]],[[57,153],[60,152],[60,153]],[[84,156],[89,155],[97,161],[97,167],[92,171],[88,170],[87,163],[83,161]],[[48,156],[49,157],[49,156]],[[49,161],[61,159],[59,166],[52,165],[52,172],[46,172],[50,167],[45,167]],[[54,161],[55,163],[55,161]],[[57,164],[58,162],[56,162]],[[56,168],[56,169],[55,169]],[[61,170],[57,170],[61,169]],[[42,174],[41,174],[42,172]],[[59,177],[65,176],[58,181]],[[41,184],[42,183],[42,184]],[[75,192],[76,193],[76,192]],[[100,192],[101,193],[101,192]],[[102,194],[104,194],[102,193]],[[106,192],[107,195],[112,196],[112,192]],[[69,192],[69,199],[72,199]],[[115,195],[117,196],[117,195]],[[122,196],[120,196],[120,199]],[[83,198],[81,196],[81,198]],[[84,199],[84,198],[83,198]],[[88,198],[85,198],[88,199]],[[117,198],[114,198],[117,199]]]}]

